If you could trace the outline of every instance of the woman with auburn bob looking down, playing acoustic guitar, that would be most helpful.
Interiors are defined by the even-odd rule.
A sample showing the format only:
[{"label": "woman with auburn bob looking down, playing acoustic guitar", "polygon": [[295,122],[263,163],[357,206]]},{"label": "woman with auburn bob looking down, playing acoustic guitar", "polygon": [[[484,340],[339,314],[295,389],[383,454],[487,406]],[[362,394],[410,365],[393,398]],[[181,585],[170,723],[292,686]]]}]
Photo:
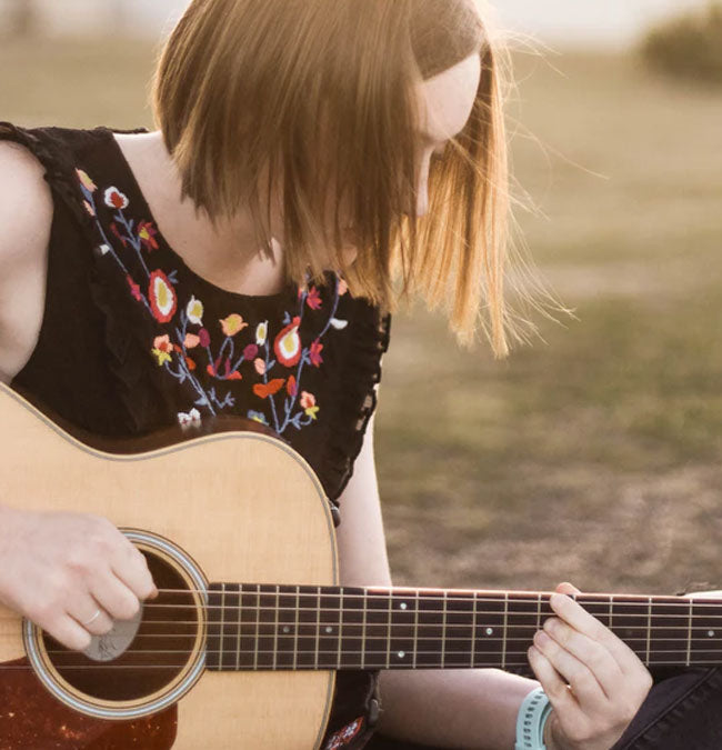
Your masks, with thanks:
[{"label": "woman with auburn bob looking down, playing acoustic guitar", "polygon": [[[340,509],[341,582],[389,586],[372,449],[389,311],[445,302],[470,343],[483,307],[498,357],[519,336],[503,294],[499,50],[482,8],[193,0],[152,104],[153,132],[0,126],[3,380],[99,434],[220,412],[269,424]],[[271,339],[274,360],[261,356]],[[299,361],[302,380],[274,377]],[[0,600],[68,648],[156,594],[144,558],[102,518],[8,502],[0,551]],[[572,599],[553,607],[529,651],[539,681],[418,670],[383,672],[377,689],[373,673],[341,673],[321,747],[363,747],[378,720],[405,742],[511,748],[540,686],[548,748],[612,747],[652,678]],[[114,731],[86,722],[72,747],[126,747]]]}]

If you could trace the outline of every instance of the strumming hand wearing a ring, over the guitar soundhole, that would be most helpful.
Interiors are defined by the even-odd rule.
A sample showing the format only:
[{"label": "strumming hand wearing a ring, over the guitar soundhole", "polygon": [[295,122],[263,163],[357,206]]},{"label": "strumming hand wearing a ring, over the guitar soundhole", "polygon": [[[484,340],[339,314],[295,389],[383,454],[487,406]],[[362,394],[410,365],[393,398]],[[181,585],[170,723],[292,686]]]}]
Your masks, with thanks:
[{"label": "strumming hand wearing a ring, over the guitar soundhole", "polygon": [[84,650],[156,596],[146,557],[108,519],[0,507],[0,603],[67,648]]}]

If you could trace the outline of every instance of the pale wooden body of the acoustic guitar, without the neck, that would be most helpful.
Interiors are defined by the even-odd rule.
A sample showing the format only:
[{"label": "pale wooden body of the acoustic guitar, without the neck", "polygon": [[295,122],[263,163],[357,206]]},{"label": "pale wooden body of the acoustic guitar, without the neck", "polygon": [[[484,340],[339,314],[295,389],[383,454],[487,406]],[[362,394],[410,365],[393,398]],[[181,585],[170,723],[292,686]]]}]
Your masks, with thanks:
[{"label": "pale wooden body of the acoustic guitar, without the neck", "polygon": [[[138,546],[161,562],[163,543],[170,541],[195,566],[193,578],[176,558],[167,564],[173,580],[182,580],[189,591],[201,588],[199,574],[205,582],[338,584],[328,501],[308,463],[283,441],[259,432],[229,431],[141,453],[108,453],[79,442],[2,384],[0,414],[1,502],[26,510],[107,517],[121,530],[133,530]],[[274,470],[269,471],[269,466]],[[143,541],[147,536],[150,541]],[[161,589],[162,580],[157,584]],[[170,687],[159,683],[149,697],[134,696],[126,684],[120,699],[101,691],[90,701],[91,713],[108,718],[111,726],[112,719],[121,717],[104,716],[110,707],[120,706],[126,717],[134,718],[147,717],[149,704],[160,711],[177,702],[174,749],[318,748],[329,718],[334,672],[207,670],[201,660],[204,627],[199,619],[189,641],[188,667]],[[14,674],[2,669],[3,662],[27,656],[29,629],[31,624],[0,606],[0,680],[12,680]],[[42,648],[36,658],[46,663],[52,679],[52,664]],[[107,672],[109,680],[112,674]],[[72,703],[76,692],[81,703],[87,702],[62,673],[54,678],[63,690],[62,702]],[[182,692],[189,684],[192,688],[173,701],[173,690]],[[0,723],[1,747],[37,747],[7,746],[8,739]],[[142,738],[138,744],[149,747]]]}]

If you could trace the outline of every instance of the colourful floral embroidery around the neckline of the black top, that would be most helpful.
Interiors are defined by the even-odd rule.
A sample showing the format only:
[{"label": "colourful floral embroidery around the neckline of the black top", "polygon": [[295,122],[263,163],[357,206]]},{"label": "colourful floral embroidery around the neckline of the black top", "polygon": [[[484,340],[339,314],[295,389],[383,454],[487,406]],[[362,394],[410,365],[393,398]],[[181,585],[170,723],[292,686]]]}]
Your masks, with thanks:
[{"label": "colourful floral embroidery around the neckline of the black top", "polygon": [[[129,219],[124,211],[130,206],[128,196],[116,187],[102,191],[103,203],[112,209],[110,234],[106,233],[98,218],[94,194],[98,186],[90,176],[77,169],[83,202],[88,213],[96,219],[102,237],[98,250],[102,258],[112,258],[122,272],[132,298],[142,304],[156,323],[162,326],[161,333],[149,341],[149,352],[153,361],[163,368],[179,383],[189,382],[197,399],[188,412],[179,412],[178,420],[183,427],[201,420],[201,409],[217,414],[235,404],[235,391],[220,392],[220,383],[251,379],[251,398],[259,400],[254,408],[248,409],[247,417],[265,424],[282,434],[289,427],[297,430],[312,424],[318,419],[320,406],[315,396],[301,390],[305,367],[320,368],[323,364],[321,342],[330,330],[343,330],[348,321],[335,317],[340,298],[348,292],[347,282],[335,277],[329,309],[324,314],[325,301],[319,290],[312,286],[308,290],[299,288],[298,308],[293,313],[285,311],[281,330],[272,336],[268,320],[254,328],[235,311],[219,319],[212,326],[204,322],[205,309],[202,300],[191,294],[182,303],[178,299],[177,271],[167,272],[149,267],[152,251],[159,248],[158,229],[151,221]],[[112,239],[114,238],[114,239]],[[119,248],[134,253],[142,269],[143,280],[139,280],[123,262]],[[110,262],[110,261],[108,261]],[[321,311],[325,322],[320,326],[309,346],[301,339],[301,323],[305,310]],[[213,343],[214,337],[222,334],[220,346]],[[151,346],[152,344],[152,346]],[[243,372],[241,372],[243,369]],[[199,378],[204,372],[214,381],[207,386]],[[219,389],[219,390],[217,390]]]}]

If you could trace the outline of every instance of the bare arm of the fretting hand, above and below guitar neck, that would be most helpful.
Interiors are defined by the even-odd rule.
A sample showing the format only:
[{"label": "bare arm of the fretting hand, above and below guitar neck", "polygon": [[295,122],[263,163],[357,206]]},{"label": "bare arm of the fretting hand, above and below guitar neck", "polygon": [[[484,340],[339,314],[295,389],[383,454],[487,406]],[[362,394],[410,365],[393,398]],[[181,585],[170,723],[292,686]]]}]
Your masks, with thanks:
[{"label": "bare arm of the fretting hand, above and below guitar neck", "polygon": [[[373,417],[340,498],[343,586],[391,586],[373,458]],[[419,586],[433,586],[433,581]],[[509,750],[519,707],[537,680],[499,669],[381,672],[384,733],[435,747]]]}]

